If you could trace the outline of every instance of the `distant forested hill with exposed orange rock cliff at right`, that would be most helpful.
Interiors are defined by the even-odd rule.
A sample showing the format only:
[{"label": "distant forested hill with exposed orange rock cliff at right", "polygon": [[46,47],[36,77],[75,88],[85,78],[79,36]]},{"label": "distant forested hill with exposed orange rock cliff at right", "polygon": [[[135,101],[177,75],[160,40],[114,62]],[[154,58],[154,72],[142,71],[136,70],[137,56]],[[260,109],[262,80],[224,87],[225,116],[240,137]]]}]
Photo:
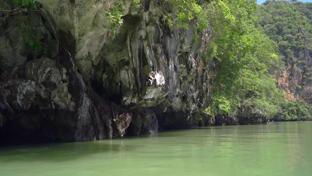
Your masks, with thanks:
[{"label": "distant forested hill with exposed orange rock cliff at right", "polygon": [[267,0],[258,5],[257,13],[263,31],[278,44],[284,63],[275,76],[289,102],[281,105],[278,118],[311,117],[312,3]]}]

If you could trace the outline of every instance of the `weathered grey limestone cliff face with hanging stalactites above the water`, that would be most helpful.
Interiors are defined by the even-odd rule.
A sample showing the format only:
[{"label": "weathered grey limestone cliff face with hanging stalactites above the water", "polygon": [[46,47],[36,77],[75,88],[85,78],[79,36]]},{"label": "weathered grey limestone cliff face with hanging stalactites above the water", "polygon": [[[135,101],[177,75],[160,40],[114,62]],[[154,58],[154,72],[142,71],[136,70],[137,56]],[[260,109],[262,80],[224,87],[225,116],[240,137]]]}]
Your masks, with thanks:
[{"label": "weathered grey limestone cliff face with hanging stalactites above the water", "polygon": [[[103,25],[113,1],[36,0],[40,11],[3,22],[1,142],[99,140],[198,124],[215,72],[199,57],[209,32],[194,42],[193,28],[164,24],[167,2],[142,1],[145,8],[123,5],[112,38]],[[15,8],[9,0],[0,5]],[[23,26],[42,50],[19,43],[29,40]]]}]

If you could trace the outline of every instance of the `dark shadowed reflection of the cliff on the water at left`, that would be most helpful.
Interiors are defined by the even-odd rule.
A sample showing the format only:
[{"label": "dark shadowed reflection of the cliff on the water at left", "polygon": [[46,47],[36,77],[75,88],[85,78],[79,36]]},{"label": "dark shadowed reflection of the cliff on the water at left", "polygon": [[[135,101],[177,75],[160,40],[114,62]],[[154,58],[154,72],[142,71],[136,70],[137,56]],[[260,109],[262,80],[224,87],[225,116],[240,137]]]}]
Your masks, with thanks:
[{"label": "dark shadowed reflection of the cliff on the water at left", "polygon": [[[127,145],[127,151],[134,150],[133,145]],[[113,142],[112,140],[73,142],[61,144],[49,144],[38,146],[23,146],[0,149],[0,162],[14,161],[66,161],[76,160],[88,155],[120,154],[125,152],[125,144],[122,140]]]}]

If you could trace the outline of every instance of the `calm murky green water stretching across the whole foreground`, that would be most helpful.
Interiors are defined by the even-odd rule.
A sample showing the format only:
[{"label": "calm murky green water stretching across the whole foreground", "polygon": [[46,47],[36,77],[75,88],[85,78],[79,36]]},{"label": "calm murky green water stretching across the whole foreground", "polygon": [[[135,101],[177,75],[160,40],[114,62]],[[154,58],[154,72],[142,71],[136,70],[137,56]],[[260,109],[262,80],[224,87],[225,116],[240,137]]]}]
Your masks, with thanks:
[{"label": "calm murky green water stretching across the whole foreground", "polygon": [[312,176],[312,122],[0,148],[0,176]]}]

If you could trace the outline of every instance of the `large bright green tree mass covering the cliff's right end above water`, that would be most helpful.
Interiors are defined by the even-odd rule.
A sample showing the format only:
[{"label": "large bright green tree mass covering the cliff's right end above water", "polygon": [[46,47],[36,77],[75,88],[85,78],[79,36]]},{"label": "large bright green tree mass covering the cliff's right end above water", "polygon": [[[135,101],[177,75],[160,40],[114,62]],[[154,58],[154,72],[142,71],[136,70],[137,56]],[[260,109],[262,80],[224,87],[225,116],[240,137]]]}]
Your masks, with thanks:
[{"label": "large bright green tree mass covering the cliff's right end above water", "polygon": [[203,60],[215,58],[218,74],[204,112],[239,116],[244,108],[272,117],[283,96],[268,70],[279,63],[278,46],[256,28],[256,1],[215,0],[207,8],[213,36]]}]

